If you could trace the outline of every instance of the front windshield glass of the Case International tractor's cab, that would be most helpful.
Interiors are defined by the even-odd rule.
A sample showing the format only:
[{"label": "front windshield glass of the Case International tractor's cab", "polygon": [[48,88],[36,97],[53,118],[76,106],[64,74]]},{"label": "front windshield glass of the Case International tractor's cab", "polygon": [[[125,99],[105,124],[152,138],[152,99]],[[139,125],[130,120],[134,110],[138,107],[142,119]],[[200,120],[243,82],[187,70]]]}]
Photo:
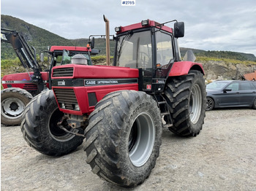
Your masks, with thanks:
[{"label": "front windshield glass of the Case International tractor's cab", "polygon": [[118,37],[116,66],[152,68],[151,31],[128,32]]}]

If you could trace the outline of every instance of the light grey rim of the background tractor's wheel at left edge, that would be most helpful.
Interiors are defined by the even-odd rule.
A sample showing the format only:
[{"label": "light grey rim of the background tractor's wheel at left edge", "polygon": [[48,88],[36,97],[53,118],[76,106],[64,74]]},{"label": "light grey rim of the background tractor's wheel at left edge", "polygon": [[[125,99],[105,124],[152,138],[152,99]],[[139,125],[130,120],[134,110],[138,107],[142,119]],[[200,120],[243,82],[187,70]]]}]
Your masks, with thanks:
[{"label": "light grey rim of the background tractor's wheel at left edge", "polygon": [[6,98],[1,102],[1,114],[10,120],[20,117],[24,109],[25,104],[18,98]]}]

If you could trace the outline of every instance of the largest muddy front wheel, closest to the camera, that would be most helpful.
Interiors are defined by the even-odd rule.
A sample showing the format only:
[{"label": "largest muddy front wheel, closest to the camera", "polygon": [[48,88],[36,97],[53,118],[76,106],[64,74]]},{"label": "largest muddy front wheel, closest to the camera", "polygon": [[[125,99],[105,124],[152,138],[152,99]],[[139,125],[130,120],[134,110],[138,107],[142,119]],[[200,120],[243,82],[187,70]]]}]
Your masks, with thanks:
[{"label": "largest muddy front wheel, closest to the camera", "polygon": [[92,172],[121,187],[135,187],[151,173],[162,143],[157,102],[123,90],[99,101],[85,130],[86,162]]}]

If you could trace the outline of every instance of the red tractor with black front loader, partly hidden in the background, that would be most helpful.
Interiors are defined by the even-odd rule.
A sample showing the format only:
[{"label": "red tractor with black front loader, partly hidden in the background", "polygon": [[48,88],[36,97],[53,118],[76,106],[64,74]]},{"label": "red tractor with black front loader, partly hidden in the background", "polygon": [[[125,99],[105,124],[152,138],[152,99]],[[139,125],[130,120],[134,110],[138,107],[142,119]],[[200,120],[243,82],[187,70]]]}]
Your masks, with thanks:
[{"label": "red tractor with black front loader, partly hidden in the background", "polygon": [[[71,63],[71,57],[77,54],[83,54],[88,65],[92,65],[91,54],[98,53],[98,50],[87,47],[52,46],[48,51],[51,58],[50,67],[42,71],[35,58],[35,50],[32,52],[22,35],[5,28],[1,28],[1,35],[1,41],[12,44],[23,67],[32,70],[27,70],[27,73],[9,74],[2,78],[4,90],[1,90],[1,124],[4,125],[20,125],[26,104],[42,90],[50,87],[49,74],[53,66]],[[91,43],[94,44],[94,39]]]}]

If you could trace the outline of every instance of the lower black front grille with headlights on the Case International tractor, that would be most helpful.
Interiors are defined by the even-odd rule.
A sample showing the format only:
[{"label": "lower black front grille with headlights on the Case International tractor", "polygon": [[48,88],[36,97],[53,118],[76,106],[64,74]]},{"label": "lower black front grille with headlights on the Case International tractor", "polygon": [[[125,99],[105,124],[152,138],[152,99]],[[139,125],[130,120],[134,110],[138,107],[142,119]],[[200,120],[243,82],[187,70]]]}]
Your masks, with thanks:
[{"label": "lower black front grille with headlights on the Case International tractor", "polygon": [[75,105],[78,104],[78,101],[73,89],[53,89],[53,91],[61,108],[70,110],[75,109]]}]

